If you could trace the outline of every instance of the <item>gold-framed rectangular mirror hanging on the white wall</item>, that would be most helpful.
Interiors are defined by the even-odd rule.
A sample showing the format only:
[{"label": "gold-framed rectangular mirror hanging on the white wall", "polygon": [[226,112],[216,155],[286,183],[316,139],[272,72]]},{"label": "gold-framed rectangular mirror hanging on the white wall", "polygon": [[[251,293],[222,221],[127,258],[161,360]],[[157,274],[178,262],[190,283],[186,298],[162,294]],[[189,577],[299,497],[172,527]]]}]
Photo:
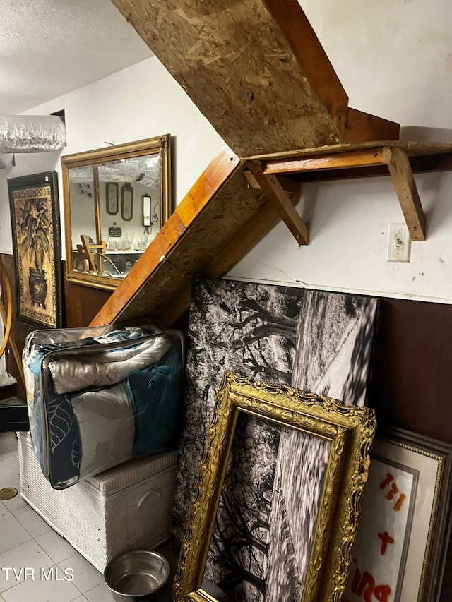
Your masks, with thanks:
[{"label": "gold-framed rectangular mirror hanging on the white wall", "polygon": [[171,136],[61,157],[66,278],[113,290],[171,212]]}]

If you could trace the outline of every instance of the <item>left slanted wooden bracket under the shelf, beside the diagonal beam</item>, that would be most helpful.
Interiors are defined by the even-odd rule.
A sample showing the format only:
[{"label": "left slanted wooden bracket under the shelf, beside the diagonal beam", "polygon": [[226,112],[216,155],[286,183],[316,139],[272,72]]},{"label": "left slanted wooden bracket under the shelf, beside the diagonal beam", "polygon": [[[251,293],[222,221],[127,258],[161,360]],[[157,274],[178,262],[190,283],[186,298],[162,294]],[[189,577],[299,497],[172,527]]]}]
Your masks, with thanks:
[{"label": "left slanted wooden bracket under the shelf, beside the diagonal beam", "polygon": [[288,198],[278,178],[274,175],[267,176],[264,174],[263,165],[260,161],[249,161],[247,166],[263,193],[268,197],[287,228],[292,232],[297,243],[307,245],[309,243],[309,229],[290,202],[290,198]]}]

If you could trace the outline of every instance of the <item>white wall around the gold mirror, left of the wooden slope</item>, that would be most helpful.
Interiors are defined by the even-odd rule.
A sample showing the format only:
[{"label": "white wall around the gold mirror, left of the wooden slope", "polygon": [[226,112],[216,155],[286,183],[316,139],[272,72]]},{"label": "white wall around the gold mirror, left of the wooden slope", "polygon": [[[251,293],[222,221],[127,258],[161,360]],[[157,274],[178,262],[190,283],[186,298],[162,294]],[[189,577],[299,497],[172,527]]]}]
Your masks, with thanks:
[{"label": "white wall around the gold mirror, left of the wooden slope", "polygon": [[[0,171],[0,253],[12,253],[6,180],[57,169],[63,222],[61,155],[170,133],[173,201],[179,203],[224,142],[155,56],[27,113],[66,114],[67,146],[58,152],[16,155],[16,167]],[[64,234],[64,233],[63,233]],[[63,256],[64,253],[64,240]]]}]

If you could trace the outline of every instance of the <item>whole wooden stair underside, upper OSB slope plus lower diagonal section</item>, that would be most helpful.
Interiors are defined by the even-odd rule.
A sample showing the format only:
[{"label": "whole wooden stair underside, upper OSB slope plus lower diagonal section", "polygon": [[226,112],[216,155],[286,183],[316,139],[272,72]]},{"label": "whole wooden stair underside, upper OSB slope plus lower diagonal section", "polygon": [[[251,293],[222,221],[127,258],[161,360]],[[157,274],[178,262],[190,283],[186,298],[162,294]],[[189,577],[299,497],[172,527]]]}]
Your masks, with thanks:
[{"label": "whole wooden stair underside, upper OSB slope plus lower diagonal section", "polygon": [[399,126],[348,107],[297,0],[112,2],[233,151],[213,158],[92,322],[147,315],[168,326],[188,306],[191,275],[220,277],[281,215],[301,221],[296,191],[290,198],[270,182],[278,215],[250,187],[247,158],[398,140]]}]

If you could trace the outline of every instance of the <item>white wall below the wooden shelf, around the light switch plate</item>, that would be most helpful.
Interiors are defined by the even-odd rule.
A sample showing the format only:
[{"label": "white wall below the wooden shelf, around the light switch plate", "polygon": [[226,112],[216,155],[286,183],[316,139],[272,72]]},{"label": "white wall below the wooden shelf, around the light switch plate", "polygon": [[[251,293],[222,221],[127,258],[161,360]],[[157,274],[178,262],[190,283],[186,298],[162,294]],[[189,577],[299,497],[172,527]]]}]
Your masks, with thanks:
[{"label": "white wall below the wooden shelf, around the light switch plate", "polygon": [[416,180],[428,228],[427,241],[412,243],[410,263],[386,261],[388,223],[403,215],[390,179],[371,178],[305,185],[297,210],[309,246],[280,223],[229,276],[452,303],[452,174]]}]

